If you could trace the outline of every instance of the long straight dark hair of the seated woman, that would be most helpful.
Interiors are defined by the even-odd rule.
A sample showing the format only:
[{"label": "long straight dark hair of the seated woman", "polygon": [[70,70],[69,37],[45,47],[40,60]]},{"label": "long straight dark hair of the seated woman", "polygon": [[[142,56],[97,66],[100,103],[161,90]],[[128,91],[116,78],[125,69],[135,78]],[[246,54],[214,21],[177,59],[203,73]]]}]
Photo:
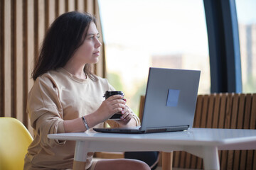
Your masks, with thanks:
[{"label": "long straight dark hair of the seated woman", "polygon": [[[31,74],[33,80],[50,70],[64,67],[75,50],[82,45],[91,22],[96,24],[94,16],[77,11],[63,13],[56,18],[43,40],[40,55]],[[90,64],[85,64],[84,72],[93,81],[97,80],[91,72]]]}]

